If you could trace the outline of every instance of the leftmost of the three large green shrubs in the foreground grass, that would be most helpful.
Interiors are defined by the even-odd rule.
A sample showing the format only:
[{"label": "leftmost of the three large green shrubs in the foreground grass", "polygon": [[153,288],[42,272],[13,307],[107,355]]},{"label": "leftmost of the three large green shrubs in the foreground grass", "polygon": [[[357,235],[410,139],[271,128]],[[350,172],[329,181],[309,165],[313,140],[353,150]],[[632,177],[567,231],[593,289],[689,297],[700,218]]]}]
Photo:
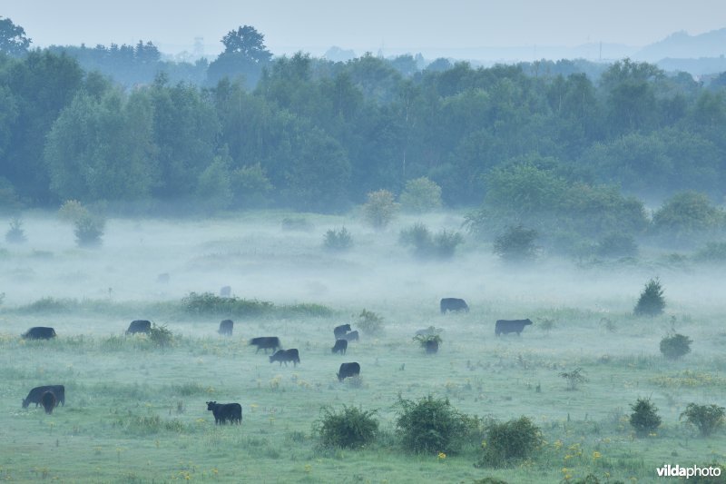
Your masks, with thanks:
[{"label": "leftmost of the three large green shrubs in the foreground grass", "polygon": [[356,449],[375,440],[378,433],[378,420],[374,418],[376,410],[343,405],[343,410],[338,412],[323,407],[320,413],[317,430],[323,445]]}]

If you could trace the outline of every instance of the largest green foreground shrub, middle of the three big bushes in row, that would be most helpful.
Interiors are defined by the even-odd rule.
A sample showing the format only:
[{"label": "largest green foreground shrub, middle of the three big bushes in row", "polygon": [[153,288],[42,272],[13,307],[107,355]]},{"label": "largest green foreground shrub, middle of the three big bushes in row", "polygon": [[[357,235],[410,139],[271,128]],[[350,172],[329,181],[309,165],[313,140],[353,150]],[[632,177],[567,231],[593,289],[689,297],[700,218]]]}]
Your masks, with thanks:
[{"label": "largest green foreground shrub, middle of the three big bushes in row", "polygon": [[456,453],[482,436],[481,420],[458,412],[448,399],[428,395],[418,401],[398,397],[396,427],[413,452]]}]

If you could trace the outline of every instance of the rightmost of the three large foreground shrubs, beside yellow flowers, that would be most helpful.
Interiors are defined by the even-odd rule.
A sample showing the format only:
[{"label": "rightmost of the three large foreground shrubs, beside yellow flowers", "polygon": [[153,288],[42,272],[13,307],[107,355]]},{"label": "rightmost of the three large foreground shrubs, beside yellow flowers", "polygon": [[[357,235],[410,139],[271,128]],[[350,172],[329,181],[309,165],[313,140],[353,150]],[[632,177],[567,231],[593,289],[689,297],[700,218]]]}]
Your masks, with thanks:
[{"label": "rightmost of the three large foreground shrubs, beside yellow flowers", "polygon": [[503,467],[512,461],[527,459],[542,441],[542,432],[527,417],[492,423],[486,430],[478,466]]}]

